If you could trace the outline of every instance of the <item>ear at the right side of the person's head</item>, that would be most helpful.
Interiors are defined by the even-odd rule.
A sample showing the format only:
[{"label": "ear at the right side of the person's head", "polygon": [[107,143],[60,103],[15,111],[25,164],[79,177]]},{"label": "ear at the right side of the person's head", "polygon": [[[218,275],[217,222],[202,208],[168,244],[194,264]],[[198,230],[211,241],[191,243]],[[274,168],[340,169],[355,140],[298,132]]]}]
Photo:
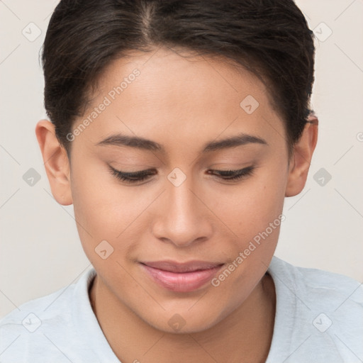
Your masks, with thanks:
[{"label": "ear at the right side of the person's head", "polygon": [[305,125],[300,140],[294,145],[289,164],[285,196],[296,196],[306,184],[308,171],[318,141],[318,118],[311,114]]}]

